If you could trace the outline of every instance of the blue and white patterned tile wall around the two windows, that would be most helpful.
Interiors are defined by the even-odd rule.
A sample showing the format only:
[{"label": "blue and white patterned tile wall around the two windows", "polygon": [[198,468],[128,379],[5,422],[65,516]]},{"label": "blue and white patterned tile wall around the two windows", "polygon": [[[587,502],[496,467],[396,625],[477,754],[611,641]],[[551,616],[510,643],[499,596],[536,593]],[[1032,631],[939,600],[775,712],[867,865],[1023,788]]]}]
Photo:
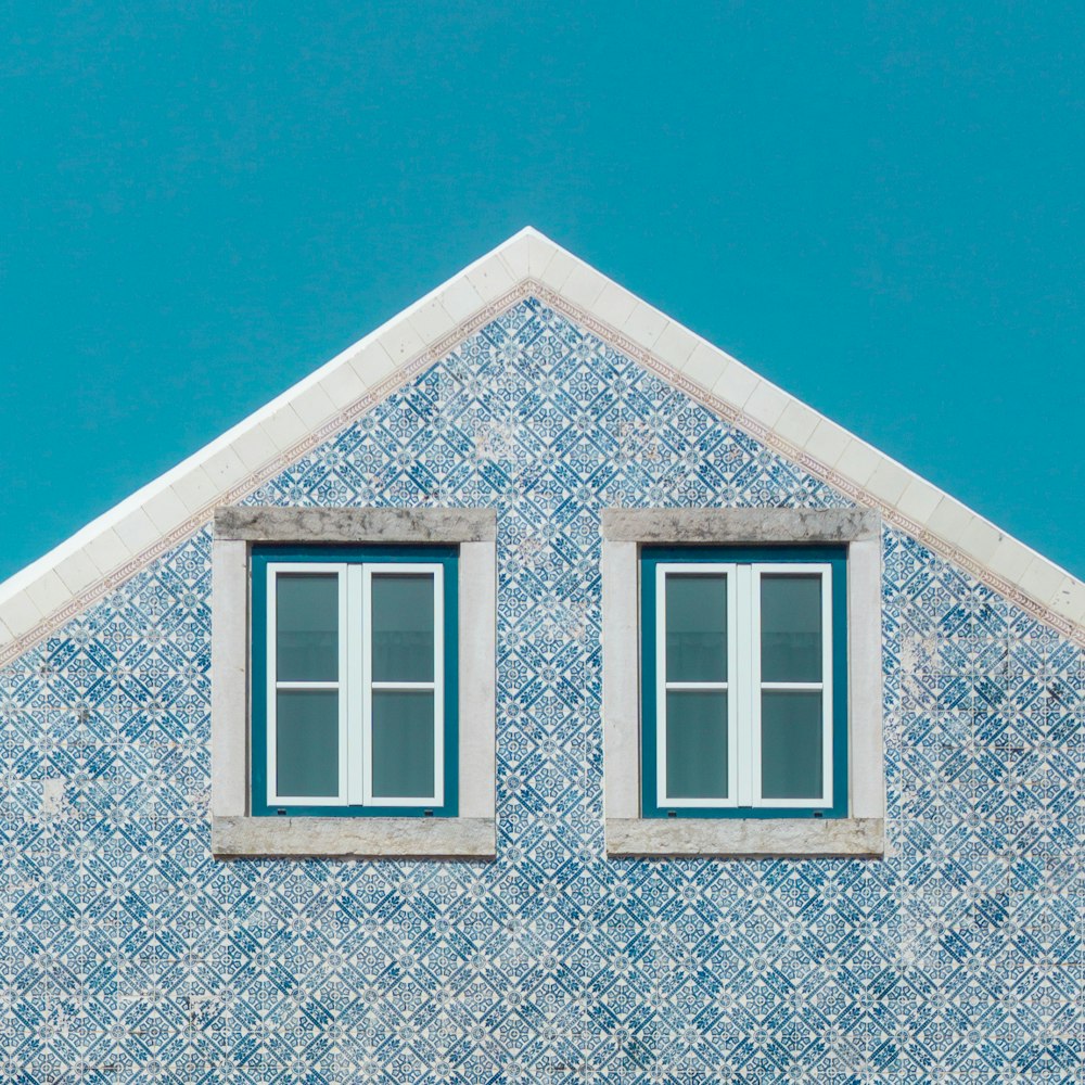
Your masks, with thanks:
[{"label": "blue and white patterned tile wall around the two windows", "polygon": [[497,861],[210,857],[203,531],[0,674],[0,1080],[1085,1081],[1081,648],[886,531],[886,859],[608,860],[600,509],[847,501],[534,301],[251,500],[497,508]]}]

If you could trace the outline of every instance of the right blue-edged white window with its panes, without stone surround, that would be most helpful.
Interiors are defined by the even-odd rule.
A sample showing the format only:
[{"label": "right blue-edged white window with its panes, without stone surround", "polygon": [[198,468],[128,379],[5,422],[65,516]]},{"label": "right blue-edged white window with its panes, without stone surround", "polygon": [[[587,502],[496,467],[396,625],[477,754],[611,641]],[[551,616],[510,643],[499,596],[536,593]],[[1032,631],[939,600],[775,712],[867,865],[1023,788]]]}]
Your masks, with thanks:
[{"label": "right blue-edged white window with its panes, without stone surround", "polygon": [[843,548],[643,547],[641,589],[642,816],[846,816]]}]

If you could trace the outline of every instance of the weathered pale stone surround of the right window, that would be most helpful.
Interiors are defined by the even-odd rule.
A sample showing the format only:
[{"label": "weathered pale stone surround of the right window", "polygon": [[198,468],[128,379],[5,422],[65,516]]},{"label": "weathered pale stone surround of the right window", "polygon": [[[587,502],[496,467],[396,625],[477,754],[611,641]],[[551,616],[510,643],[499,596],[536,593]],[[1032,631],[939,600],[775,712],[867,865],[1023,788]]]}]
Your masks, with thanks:
[{"label": "weathered pale stone surround of the right window", "polygon": [[[600,529],[607,854],[880,858],[885,768],[879,514],[868,509],[605,509]],[[847,546],[848,816],[642,818],[640,547],[803,542]]]}]

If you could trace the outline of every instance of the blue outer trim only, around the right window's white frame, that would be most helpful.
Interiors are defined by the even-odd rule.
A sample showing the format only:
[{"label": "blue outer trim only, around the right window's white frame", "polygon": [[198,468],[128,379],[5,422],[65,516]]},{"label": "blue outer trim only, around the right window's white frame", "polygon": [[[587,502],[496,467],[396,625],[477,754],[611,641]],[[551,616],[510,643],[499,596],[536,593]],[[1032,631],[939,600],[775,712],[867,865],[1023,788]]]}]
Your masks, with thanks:
[{"label": "blue outer trim only, around the right window's white frame", "polygon": [[[661,562],[788,562],[832,569],[832,805],[804,808],[660,806],[655,765],[655,566]],[[837,546],[643,546],[640,548],[641,817],[842,818],[847,817],[847,548]]]}]

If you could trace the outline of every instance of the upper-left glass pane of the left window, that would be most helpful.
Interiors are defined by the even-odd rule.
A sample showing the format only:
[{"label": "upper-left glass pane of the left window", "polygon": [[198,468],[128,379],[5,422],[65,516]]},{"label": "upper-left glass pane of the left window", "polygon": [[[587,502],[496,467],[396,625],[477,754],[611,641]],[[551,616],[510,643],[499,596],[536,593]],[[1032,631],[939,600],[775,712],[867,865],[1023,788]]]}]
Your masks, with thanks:
[{"label": "upper-left glass pane of the left window", "polygon": [[339,576],[280,573],[275,607],[278,680],[336,681]]}]

